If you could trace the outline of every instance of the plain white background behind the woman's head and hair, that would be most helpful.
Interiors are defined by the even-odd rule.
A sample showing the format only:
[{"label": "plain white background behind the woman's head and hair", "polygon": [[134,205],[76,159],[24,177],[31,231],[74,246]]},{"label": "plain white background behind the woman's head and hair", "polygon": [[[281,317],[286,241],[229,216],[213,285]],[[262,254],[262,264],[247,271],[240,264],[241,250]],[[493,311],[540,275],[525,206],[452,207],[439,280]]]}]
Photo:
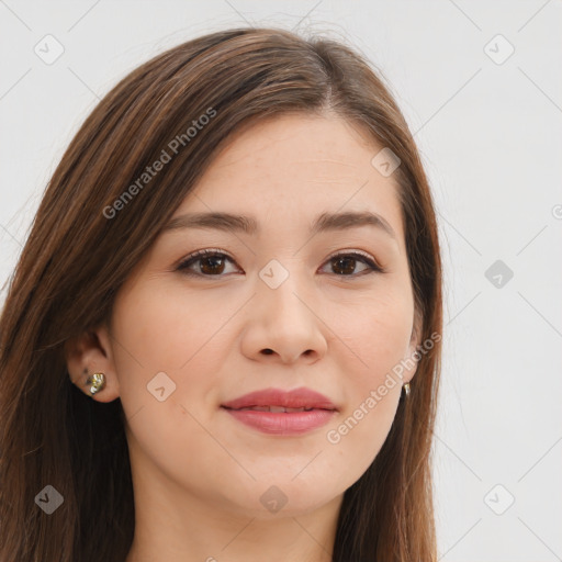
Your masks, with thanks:
[{"label": "plain white background behind the woman's head and hair", "polygon": [[[562,560],[560,1],[0,0],[0,282],[99,99],[156,53],[238,25],[351,43],[415,133],[446,268],[440,560]],[[52,65],[34,53],[47,34],[64,47]],[[498,34],[515,48],[502,64]],[[514,272],[499,288],[496,260]]]}]

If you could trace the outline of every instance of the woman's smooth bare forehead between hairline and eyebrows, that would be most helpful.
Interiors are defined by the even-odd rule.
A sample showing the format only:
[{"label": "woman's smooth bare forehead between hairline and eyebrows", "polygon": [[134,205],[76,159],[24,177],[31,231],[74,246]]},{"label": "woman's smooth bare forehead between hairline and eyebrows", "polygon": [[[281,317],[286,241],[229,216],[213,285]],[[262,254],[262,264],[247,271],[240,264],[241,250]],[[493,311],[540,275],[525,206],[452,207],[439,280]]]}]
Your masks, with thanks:
[{"label": "woman's smooth bare forehead between hairline and eyebrows", "polygon": [[232,212],[296,225],[322,212],[371,211],[402,237],[397,182],[371,164],[382,148],[341,117],[260,121],[231,137],[177,214]]}]

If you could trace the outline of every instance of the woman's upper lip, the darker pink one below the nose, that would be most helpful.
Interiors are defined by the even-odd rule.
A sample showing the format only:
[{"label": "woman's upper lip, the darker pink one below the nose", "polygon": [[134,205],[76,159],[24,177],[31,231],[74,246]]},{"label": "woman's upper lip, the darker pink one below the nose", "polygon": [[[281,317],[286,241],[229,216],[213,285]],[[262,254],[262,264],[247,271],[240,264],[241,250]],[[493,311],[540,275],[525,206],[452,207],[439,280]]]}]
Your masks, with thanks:
[{"label": "woman's upper lip, the darker pink one below the nose", "polygon": [[281,406],[285,408],[337,409],[335,404],[323,394],[311,389],[263,389],[239,396],[222,404],[223,407],[240,409],[251,406]]}]

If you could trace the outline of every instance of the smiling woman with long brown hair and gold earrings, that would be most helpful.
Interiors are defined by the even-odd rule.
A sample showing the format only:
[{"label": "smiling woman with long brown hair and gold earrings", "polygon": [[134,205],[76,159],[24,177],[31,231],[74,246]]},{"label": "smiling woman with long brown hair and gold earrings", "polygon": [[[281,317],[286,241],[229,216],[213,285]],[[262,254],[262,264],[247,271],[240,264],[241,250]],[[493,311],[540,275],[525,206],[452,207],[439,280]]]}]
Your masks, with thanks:
[{"label": "smiling woman with long brown hair and gold earrings", "polygon": [[441,262],[352,49],[213,33],[56,169],[0,322],[0,560],[434,561]]}]

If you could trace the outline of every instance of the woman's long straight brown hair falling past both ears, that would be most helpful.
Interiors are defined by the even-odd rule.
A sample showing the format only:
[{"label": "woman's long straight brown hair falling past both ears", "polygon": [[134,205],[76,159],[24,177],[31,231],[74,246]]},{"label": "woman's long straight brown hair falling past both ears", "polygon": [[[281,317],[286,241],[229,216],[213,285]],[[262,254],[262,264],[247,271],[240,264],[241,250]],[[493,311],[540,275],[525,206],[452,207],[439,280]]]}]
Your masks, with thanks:
[{"label": "woman's long straight brown hair falling past both ears", "polygon": [[[231,133],[326,110],[401,159],[393,177],[420,339],[441,333],[428,182],[401,111],[360,55],[326,38],[236,29],[156,56],[119,82],[71,140],[10,280],[0,318],[0,562],[126,558],[134,498],[121,401],[92,401],[71,383],[65,342],[109,321],[130,272]],[[140,183],[162,150],[173,157]],[[346,491],[335,562],[437,560],[430,449],[440,353],[435,341],[423,355],[381,451]],[[35,502],[46,485],[64,497],[52,515]]]}]

